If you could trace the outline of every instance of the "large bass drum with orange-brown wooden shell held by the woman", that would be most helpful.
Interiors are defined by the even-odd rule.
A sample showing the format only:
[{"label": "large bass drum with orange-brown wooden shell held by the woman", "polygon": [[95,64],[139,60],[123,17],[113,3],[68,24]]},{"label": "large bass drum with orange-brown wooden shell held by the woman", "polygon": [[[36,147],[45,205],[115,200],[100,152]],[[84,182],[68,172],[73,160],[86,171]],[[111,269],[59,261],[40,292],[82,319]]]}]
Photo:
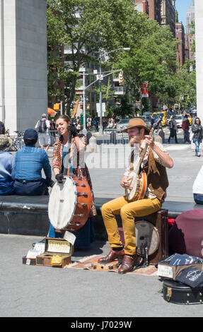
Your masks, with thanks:
[{"label": "large bass drum with orange-brown wooden shell held by the woman", "polygon": [[48,206],[50,223],[56,230],[79,230],[89,218],[92,200],[86,179],[64,175],[63,183],[56,182],[52,187]]}]

